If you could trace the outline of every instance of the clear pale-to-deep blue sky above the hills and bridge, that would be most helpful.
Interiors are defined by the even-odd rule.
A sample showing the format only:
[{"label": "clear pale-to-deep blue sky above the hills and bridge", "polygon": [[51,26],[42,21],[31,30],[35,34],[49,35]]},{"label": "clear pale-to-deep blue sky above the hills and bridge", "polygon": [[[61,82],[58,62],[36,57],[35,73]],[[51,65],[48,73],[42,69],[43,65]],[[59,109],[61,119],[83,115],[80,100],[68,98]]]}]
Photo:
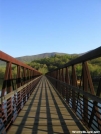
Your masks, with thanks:
[{"label": "clear pale-to-deep blue sky above the hills and bridge", "polygon": [[0,0],[0,50],[13,56],[101,46],[101,0]]}]

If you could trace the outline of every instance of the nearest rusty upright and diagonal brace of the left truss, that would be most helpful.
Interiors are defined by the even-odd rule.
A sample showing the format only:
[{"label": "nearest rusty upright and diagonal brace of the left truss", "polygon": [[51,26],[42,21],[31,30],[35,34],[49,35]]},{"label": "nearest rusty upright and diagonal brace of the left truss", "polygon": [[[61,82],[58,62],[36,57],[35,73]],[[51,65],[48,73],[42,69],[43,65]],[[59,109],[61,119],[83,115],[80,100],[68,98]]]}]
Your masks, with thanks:
[{"label": "nearest rusty upright and diagonal brace of the left truss", "polygon": [[[4,82],[3,82],[3,87],[2,87],[2,94],[1,96],[5,95],[5,92],[8,94],[12,91],[12,68],[11,68],[11,62],[8,62],[6,64],[6,71],[5,71],[5,76],[4,76]],[[3,104],[3,103],[2,103]],[[10,126],[12,119],[13,119],[13,104],[12,104],[12,97],[7,99],[5,102],[6,105],[6,130]],[[4,113],[4,111],[2,111]]]}]

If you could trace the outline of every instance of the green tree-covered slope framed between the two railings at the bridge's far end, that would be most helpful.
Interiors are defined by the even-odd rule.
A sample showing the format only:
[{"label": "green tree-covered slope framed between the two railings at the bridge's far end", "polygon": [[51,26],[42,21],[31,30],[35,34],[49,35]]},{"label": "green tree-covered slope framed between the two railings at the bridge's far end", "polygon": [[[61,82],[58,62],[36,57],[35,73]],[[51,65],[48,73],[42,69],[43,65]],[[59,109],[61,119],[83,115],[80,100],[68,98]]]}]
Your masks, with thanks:
[{"label": "green tree-covered slope framed between the two railings at the bridge's far end", "polygon": [[28,65],[32,66],[33,68],[39,70],[43,74],[52,71],[58,67],[61,67],[62,65],[66,64],[70,60],[78,57],[78,55],[54,55],[50,58],[43,58],[39,60],[34,60]]}]

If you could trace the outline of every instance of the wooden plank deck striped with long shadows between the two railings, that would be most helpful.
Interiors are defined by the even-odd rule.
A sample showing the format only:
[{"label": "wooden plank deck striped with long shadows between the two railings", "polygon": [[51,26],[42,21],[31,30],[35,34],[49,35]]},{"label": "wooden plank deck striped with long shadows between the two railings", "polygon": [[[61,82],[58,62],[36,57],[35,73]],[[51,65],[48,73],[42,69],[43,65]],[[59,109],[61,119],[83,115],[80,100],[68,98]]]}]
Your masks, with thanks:
[{"label": "wooden plank deck striped with long shadows between the two railings", "polygon": [[7,134],[68,134],[73,130],[85,129],[42,77]]}]

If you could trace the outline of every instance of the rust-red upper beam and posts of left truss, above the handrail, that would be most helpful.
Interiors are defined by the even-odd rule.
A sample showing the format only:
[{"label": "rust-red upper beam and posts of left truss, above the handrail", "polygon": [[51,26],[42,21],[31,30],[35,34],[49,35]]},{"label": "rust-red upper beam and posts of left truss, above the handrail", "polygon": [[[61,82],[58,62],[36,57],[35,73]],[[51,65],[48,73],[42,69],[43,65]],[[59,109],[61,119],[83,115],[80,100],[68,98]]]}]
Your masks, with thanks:
[{"label": "rust-red upper beam and posts of left truss, above the handrail", "polygon": [[0,51],[0,60],[6,62],[6,70],[4,75],[4,81],[2,85],[2,93],[1,96],[5,95],[5,92],[9,93],[14,90],[13,78],[12,78],[12,64],[17,66],[17,76],[16,76],[16,85],[17,88],[21,85],[25,84],[27,81],[27,70],[29,70],[30,80],[36,76],[41,75],[40,72],[35,70],[34,68],[16,60],[15,58],[9,56],[8,54]]}]

